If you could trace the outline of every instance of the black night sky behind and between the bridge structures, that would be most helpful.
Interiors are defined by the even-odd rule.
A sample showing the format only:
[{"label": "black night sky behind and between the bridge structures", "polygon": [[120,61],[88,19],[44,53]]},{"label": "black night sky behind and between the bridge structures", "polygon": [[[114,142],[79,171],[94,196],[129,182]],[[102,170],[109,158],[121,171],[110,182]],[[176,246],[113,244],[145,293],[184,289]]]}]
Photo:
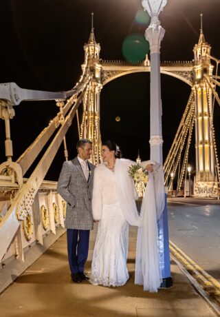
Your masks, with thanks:
[{"label": "black night sky behind and between the bridge structures", "polygon": [[[147,25],[135,22],[140,0],[1,0],[0,83],[14,81],[21,88],[61,91],[74,87],[81,74],[83,45],[89,39],[91,12],[94,12],[96,41],[102,59],[122,60],[122,43],[129,34],[144,34]],[[200,13],[203,32],[212,46],[212,56],[220,58],[220,0],[168,0],[159,18],[166,30],[162,41],[162,61],[193,59],[192,49],[199,39]],[[190,87],[162,75],[164,159],[175,137]],[[23,102],[15,108],[11,121],[14,160],[34,141],[57,112],[54,102]],[[121,121],[116,122],[115,116]],[[220,108],[214,120],[219,144]],[[102,140],[112,139],[125,157],[149,157],[149,74],[122,76],[104,86],[101,93]],[[0,121],[0,161],[4,157],[4,125]],[[78,132],[76,122],[67,134],[69,156]],[[191,150],[193,162],[194,145]],[[47,178],[56,179],[63,163],[63,149]]]}]

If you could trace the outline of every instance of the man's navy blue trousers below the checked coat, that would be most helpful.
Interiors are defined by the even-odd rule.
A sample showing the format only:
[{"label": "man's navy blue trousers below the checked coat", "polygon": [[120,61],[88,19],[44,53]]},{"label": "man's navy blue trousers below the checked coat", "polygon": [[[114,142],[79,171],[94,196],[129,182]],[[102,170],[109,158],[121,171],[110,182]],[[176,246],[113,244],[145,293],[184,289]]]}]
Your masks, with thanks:
[{"label": "man's navy blue trousers below the checked coat", "polygon": [[67,251],[72,274],[84,272],[89,252],[89,230],[67,229]]}]

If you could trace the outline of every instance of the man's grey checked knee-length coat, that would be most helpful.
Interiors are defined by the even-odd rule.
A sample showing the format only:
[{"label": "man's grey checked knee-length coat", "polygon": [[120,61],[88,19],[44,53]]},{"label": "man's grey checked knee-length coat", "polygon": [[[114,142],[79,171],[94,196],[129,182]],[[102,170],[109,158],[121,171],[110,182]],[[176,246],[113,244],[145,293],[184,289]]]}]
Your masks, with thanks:
[{"label": "man's grey checked knee-length coat", "polygon": [[[89,162],[88,162],[89,163]],[[67,229],[93,229],[91,194],[94,183],[95,165],[89,163],[90,176],[87,182],[77,159],[63,163],[58,179],[57,191],[67,202],[65,227]]]}]

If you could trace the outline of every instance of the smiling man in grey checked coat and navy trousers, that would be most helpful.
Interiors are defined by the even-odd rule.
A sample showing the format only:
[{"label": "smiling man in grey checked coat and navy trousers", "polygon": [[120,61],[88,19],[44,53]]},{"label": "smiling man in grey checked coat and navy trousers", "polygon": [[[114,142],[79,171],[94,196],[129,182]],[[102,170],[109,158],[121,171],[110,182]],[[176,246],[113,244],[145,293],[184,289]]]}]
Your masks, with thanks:
[{"label": "smiling man in grey checked coat and navy trousers", "polygon": [[76,144],[78,156],[63,163],[57,191],[67,202],[65,227],[67,251],[72,280],[80,283],[88,280],[84,273],[89,252],[89,230],[93,229],[91,194],[95,165],[89,163],[91,141],[80,139]]}]

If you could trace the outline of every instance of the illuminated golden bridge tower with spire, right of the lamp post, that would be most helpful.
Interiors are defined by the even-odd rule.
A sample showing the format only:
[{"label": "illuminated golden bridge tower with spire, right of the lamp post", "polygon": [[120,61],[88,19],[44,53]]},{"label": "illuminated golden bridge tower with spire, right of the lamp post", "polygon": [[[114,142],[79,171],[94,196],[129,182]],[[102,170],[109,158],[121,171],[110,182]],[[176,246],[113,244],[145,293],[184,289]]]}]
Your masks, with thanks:
[{"label": "illuminated golden bridge tower with spire, right of the lamp post", "polygon": [[211,47],[205,41],[202,25],[199,43],[195,45],[193,66],[195,96],[195,196],[216,196],[215,153],[213,129],[212,90],[206,81],[212,76]]}]

